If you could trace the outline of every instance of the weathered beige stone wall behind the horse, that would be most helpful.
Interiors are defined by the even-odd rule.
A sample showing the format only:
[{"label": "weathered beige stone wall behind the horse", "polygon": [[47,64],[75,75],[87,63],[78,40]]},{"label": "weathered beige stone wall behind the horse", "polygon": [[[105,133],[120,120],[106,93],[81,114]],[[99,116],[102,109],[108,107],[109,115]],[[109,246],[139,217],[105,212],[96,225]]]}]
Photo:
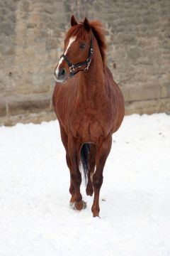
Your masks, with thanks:
[{"label": "weathered beige stone wall behind the horse", "polygon": [[126,114],[170,112],[169,0],[0,0],[0,124],[55,118],[53,72],[72,14],[106,27]]}]

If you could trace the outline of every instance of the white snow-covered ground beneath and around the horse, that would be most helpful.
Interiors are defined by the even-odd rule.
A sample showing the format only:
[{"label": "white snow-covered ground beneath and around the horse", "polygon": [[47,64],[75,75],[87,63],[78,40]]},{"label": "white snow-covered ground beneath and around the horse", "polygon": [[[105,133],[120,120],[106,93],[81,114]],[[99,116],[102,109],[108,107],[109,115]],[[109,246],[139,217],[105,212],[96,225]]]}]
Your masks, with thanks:
[{"label": "white snow-covered ground beneath and around the horse", "polygon": [[[101,188],[101,218],[69,208],[57,121],[0,127],[0,256],[169,256],[170,116],[125,117]],[[103,200],[102,200],[103,199]]]}]

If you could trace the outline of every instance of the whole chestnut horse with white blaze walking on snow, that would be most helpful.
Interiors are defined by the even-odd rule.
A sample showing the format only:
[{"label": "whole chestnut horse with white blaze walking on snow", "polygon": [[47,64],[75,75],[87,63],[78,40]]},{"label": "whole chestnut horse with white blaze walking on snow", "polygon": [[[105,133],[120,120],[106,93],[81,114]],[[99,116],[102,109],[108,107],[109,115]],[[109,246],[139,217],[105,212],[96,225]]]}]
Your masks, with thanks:
[{"label": "whole chestnut horse with white blaze walking on snow", "polygon": [[122,92],[106,66],[106,38],[101,23],[71,18],[55,68],[52,102],[60,123],[62,143],[70,171],[70,206],[81,210],[80,164],[86,175],[86,194],[92,196],[94,217],[99,216],[99,193],[103,168],[112,145],[112,134],[123,121]]}]

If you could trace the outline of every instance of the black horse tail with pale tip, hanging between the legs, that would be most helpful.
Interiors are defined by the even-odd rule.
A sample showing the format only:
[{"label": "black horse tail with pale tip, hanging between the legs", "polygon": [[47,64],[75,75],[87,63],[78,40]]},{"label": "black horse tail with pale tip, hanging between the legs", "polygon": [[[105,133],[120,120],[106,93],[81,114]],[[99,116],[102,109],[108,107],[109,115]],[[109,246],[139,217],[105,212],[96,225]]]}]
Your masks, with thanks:
[{"label": "black horse tail with pale tip, hanging between the legs", "polygon": [[83,146],[81,147],[80,164],[81,164],[81,169],[84,172],[85,182],[87,182],[88,176],[89,176],[89,152],[90,152],[90,144],[83,144]]}]

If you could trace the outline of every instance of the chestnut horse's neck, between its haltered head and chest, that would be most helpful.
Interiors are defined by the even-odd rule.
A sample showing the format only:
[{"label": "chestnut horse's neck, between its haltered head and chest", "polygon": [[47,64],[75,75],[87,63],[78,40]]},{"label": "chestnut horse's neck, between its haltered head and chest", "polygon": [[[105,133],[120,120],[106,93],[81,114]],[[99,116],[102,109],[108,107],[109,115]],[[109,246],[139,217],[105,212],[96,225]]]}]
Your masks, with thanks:
[{"label": "chestnut horse's neck, between its haltered head and chest", "polygon": [[93,60],[88,71],[79,74],[79,100],[86,102],[97,102],[104,97],[105,82],[103,73],[103,61],[98,51],[94,53]]}]

